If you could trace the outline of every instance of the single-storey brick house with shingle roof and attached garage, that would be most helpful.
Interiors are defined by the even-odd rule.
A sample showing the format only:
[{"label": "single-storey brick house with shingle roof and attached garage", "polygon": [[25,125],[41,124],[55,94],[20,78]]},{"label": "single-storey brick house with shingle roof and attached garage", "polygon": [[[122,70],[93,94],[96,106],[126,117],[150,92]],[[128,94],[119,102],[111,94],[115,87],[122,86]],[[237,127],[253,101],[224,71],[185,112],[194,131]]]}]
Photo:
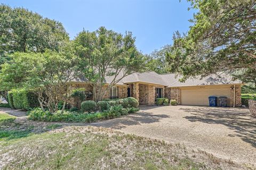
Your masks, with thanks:
[{"label": "single-storey brick house with shingle roof and attached garage", "polygon": [[[178,104],[209,106],[209,96],[227,97],[227,106],[241,106],[240,80],[232,80],[230,75],[210,75],[204,78],[197,76],[189,78],[184,83],[179,82],[174,74],[159,75],[156,72],[134,73],[124,77],[108,93],[104,99],[133,97],[140,104],[154,105],[156,98],[177,100]],[[105,77],[106,85],[113,77]],[[85,88],[92,92],[92,85],[83,79],[70,82],[71,89]],[[105,87],[106,88],[106,87]]]}]

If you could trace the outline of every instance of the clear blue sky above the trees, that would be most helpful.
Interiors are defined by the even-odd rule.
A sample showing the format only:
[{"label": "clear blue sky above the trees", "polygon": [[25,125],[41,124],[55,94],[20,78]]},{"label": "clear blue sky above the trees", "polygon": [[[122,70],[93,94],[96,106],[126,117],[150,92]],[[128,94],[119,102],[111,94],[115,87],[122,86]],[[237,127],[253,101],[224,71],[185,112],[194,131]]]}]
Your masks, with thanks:
[{"label": "clear blue sky above the trees", "polygon": [[186,33],[195,11],[186,0],[0,0],[11,7],[25,7],[43,17],[62,22],[70,39],[83,29],[100,26],[124,34],[132,31],[144,54],[172,44],[173,33]]}]

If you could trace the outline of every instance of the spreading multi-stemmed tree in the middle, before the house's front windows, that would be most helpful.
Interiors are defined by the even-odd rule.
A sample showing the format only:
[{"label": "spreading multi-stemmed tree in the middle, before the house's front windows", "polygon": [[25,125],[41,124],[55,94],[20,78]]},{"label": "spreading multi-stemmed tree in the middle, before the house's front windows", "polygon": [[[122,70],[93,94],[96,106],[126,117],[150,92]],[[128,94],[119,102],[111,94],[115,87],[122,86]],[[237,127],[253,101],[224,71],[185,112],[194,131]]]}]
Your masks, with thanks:
[{"label": "spreading multi-stemmed tree in the middle, before the house's front windows", "polygon": [[[79,70],[93,85],[95,101],[101,101],[109,89],[123,77],[145,68],[146,59],[135,47],[131,32],[122,34],[100,27],[89,32],[83,30],[74,40],[75,53],[79,57]],[[112,81],[105,85],[105,77]]]}]

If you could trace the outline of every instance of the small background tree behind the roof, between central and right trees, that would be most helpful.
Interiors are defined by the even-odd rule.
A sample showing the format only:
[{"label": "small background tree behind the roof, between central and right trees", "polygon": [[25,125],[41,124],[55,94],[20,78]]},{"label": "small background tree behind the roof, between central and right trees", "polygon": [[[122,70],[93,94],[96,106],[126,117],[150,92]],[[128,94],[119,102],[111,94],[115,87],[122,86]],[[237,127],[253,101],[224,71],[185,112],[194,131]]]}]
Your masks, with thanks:
[{"label": "small background tree behind the roof, between central and right trees", "polygon": [[160,50],[155,50],[151,54],[147,55],[149,61],[146,66],[149,71],[155,71],[158,74],[165,74],[169,72],[166,67],[165,55],[171,51],[171,47],[171,45],[165,45]]}]

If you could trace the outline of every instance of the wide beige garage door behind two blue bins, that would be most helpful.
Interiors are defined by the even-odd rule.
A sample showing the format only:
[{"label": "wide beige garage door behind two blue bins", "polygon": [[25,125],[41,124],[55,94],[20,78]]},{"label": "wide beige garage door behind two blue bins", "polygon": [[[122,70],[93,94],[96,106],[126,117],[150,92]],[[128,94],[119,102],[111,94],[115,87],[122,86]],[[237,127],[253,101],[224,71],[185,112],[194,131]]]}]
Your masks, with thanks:
[{"label": "wide beige garage door behind two blue bins", "polygon": [[181,89],[181,104],[209,106],[209,96],[226,96],[227,105],[230,106],[230,87],[201,87]]}]

